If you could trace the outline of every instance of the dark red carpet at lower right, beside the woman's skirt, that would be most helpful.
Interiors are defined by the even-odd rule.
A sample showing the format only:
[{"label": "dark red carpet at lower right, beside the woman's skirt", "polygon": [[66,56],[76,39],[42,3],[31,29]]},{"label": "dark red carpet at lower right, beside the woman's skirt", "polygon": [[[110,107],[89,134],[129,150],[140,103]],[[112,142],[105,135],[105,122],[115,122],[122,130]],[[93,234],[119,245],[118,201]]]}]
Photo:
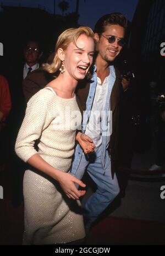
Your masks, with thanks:
[{"label": "dark red carpet at lower right, beside the woman's skirt", "polygon": [[107,217],[92,228],[90,244],[165,244],[165,224]]}]

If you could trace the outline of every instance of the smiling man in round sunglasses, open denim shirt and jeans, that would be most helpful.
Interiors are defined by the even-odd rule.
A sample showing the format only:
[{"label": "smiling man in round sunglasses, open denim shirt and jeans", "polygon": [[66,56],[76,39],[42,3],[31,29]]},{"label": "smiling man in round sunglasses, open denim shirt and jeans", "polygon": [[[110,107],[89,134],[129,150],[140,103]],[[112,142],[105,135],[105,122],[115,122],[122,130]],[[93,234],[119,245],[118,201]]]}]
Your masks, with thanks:
[{"label": "smiling man in round sunglasses, open denim shirt and jeans", "polygon": [[[107,14],[95,25],[96,59],[89,83],[79,85],[77,100],[83,113],[82,132],[95,144],[94,154],[83,154],[76,146],[72,175],[81,179],[84,172],[96,183],[96,192],[84,206],[85,226],[89,229],[97,217],[119,193],[115,163],[118,160],[119,99],[123,94],[122,77],[113,61],[125,44],[127,19],[120,13]],[[111,127],[112,126],[112,127]],[[111,135],[111,138],[110,138]],[[111,155],[111,159],[109,157]]]}]

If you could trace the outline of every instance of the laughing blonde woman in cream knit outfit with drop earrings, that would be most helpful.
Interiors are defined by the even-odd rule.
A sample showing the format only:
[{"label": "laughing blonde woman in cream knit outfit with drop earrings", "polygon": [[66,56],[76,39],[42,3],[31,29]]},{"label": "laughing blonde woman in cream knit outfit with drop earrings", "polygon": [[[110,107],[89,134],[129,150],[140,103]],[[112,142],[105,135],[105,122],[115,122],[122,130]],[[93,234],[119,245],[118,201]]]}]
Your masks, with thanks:
[{"label": "laughing blonde woman in cream knit outfit with drop earrings", "polygon": [[[75,135],[85,154],[94,151],[90,138],[76,134],[81,114],[74,93],[92,64],[93,37],[85,26],[65,30],[58,37],[53,63],[44,68],[50,73],[59,70],[59,75],[27,104],[15,144],[17,155],[31,166],[24,176],[23,244],[69,243],[85,237],[77,200],[85,191],[75,186],[85,184],[69,171]],[[40,140],[38,152],[36,139]]]}]

